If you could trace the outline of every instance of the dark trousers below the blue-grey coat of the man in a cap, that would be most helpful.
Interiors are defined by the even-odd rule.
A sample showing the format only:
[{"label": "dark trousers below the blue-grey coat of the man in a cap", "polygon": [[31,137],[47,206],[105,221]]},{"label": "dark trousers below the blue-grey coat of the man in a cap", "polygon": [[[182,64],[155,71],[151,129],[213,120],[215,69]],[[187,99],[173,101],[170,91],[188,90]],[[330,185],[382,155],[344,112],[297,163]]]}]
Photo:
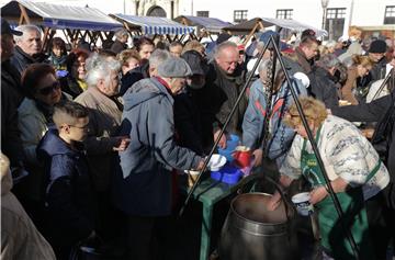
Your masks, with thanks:
[{"label": "dark trousers below the blue-grey coat of the man in a cap", "polygon": [[167,257],[172,241],[171,217],[128,216],[128,259],[162,260]]}]

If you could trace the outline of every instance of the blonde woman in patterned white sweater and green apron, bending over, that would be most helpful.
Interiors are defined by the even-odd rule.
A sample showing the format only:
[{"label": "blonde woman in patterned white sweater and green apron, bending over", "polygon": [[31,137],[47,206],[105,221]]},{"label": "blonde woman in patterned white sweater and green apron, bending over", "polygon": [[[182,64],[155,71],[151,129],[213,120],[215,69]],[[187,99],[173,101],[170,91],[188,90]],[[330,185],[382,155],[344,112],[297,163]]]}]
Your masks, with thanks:
[{"label": "blonde woman in patterned white sweater and green apron, bending over", "polygon": [[[366,216],[366,208],[374,211],[374,206],[377,206],[381,191],[390,182],[388,172],[373,146],[352,123],[328,115],[325,105],[313,98],[301,98],[300,101],[343,217],[339,218],[328,195],[323,172],[295,104],[289,110],[286,123],[297,135],[280,169],[280,182],[287,186],[292,180],[304,176],[311,183],[313,190],[309,202],[318,212],[321,246],[326,255],[335,259],[354,259],[342,229],[345,226],[357,242],[359,259],[375,259],[370,242],[374,244],[374,249],[380,248],[380,245],[375,245],[375,236],[380,234],[374,233],[380,224],[372,218],[369,218],[368,224],[371,214],[368,212]],[[275,193],[270,207],[275,208],[279,199],[279,193]],[[373,235],[372,241],[369,240],[368,231]]]}]

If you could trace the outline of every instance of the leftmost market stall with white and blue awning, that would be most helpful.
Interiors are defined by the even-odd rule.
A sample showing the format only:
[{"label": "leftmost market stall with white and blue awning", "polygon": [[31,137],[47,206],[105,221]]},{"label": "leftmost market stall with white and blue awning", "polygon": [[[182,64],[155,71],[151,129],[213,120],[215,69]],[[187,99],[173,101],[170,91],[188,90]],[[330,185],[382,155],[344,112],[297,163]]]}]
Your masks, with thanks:
[{"label": "leftmost market stall with white and blue awning", "polygon": [[93,45],[100,38],[111,39],[122,24],[94,8],[69,7],[26,0],[13,0],[1,8],[1,15],[11,24],[35,24],[44,31],[43,49],[61,30],[69,44],[89,38]]}]

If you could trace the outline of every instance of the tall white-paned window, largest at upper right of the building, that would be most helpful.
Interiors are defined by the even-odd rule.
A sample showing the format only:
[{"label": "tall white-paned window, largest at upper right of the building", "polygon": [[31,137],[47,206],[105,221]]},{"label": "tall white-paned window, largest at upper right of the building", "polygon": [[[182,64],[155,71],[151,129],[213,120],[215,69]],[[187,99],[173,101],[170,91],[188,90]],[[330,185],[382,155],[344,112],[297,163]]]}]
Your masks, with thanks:
[{"label": "tall white-paned window, largest at upper right of the building", "polygon": [[343,34],[346,8],[328,8],[325,20],[325,30],[329,39],[338,39]]}]

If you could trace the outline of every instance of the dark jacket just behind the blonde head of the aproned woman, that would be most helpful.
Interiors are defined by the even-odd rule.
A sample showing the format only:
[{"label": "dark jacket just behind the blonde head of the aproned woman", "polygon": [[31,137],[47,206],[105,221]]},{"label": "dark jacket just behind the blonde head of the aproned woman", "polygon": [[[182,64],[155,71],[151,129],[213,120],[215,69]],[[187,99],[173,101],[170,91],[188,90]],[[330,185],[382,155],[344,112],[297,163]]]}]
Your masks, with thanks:
[{"label": "dark jacket just behind the blonde head of the aproned woman", "polygon": [[323,101],[328,109],[339,105],[336,83],[328,71],[315,66],[307,76],[311,80],[311,93],[314,98]]}]

